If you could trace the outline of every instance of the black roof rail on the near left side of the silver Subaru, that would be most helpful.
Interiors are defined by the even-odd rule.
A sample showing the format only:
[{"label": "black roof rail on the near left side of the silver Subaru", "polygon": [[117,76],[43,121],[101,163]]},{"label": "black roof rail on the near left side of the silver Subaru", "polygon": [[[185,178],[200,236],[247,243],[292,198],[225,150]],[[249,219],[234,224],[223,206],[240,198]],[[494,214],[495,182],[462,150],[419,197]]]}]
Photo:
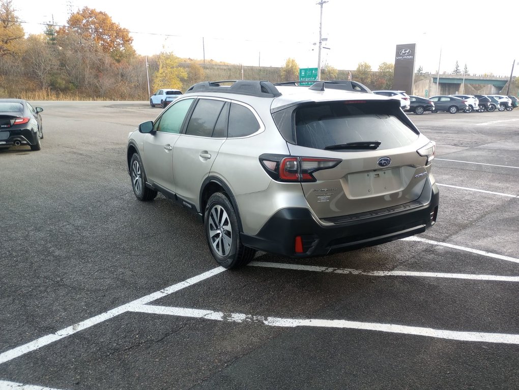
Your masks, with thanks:
[{"label": "black roof rail on the near left side of the silver Subaru", "polygon": [[[221,84],[229,84],[221,85]],[[270,81],[262,80],[223,80],[223,81],[201,81],[190,86],[186,93],[190,92],[226,92],[258,97],[281,96],[276,86]]]}]

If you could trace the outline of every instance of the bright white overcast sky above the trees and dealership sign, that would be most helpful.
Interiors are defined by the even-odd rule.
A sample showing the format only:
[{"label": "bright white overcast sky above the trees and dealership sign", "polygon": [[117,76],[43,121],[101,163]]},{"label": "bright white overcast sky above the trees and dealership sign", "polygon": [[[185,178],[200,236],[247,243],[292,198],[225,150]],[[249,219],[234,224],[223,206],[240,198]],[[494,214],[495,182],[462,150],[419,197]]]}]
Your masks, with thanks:
[{"label": "bright white overcast sky above the trees and dealership sign", "polygon": [[[283,66],[292,57],[299,67],[317,67],[317,0],[12,0],[26,33],[43,33],[43,24],[65,24],[85,6],[106,12],[133,37],[139,54],[172,51],[179,57],[243,65]],[[481,3],[484,4],[484,3]],[[321,64],[373,70],[394,63],[395,47],[416,43],[415,70],[452,72],[456,61],[470,74],[510,76],[519,62],[519,2],[354,1],[323,5]],[[505,4],[505,3],[503,3]],[[474,6],[471,6],[474,5]],[[43,23],[43,24],[42,24]],[[203,43],[202,43],[203,38]],[[316,45],[313,45],[316,44]],[[441,61],[440,61],[441,52]],[[514,75],[519,75],[515,66]]]}]

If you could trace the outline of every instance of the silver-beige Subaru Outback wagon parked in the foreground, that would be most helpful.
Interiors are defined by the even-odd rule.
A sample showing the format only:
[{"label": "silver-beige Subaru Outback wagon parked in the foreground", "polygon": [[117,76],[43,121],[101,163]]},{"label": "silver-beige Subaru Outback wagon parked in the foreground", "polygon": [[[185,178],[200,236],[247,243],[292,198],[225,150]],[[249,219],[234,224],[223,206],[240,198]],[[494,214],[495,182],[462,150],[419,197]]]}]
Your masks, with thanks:
[{"label": "silver-beige Subaru Outback wagon parked in the foreground", "polygon": [[435,143],[397,100],[327,85],[193,85],[129,135],[135,196],[198,214],[226,268],[257,250],[322,256],[425,232]]}]

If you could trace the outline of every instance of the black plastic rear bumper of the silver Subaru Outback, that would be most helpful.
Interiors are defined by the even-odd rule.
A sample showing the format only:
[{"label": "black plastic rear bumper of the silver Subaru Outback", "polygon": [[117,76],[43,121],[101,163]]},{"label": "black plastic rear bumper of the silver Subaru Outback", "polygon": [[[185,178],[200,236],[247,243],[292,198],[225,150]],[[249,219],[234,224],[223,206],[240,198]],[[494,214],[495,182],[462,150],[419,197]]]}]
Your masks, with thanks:
[{"label": "black plastic rear bumper of the silver Subaru Outback", "polygon": [[[411,203],[333,219],[331,226],[319,224],[308,209],[286,208],[274,214],[257,235],[241,234],[241,241],[247,247],[296,258],[346,252],[425,232],[436,221],[439,201],[438,187],[428,180]],[[302,253],[295,253],[297,236]]]}]

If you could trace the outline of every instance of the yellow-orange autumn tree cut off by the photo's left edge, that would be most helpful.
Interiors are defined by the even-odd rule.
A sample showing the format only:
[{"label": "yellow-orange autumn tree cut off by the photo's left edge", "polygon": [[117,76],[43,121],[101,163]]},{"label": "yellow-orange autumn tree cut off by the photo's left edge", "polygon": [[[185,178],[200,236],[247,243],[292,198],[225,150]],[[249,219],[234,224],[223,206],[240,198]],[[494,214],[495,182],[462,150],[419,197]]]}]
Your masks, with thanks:
[{"label": "yellow-orange autumn tree cut off by the photo's left edge", "polygon": [[24,32],[11,0],[0,2],[0,57],[22,51]]}]

